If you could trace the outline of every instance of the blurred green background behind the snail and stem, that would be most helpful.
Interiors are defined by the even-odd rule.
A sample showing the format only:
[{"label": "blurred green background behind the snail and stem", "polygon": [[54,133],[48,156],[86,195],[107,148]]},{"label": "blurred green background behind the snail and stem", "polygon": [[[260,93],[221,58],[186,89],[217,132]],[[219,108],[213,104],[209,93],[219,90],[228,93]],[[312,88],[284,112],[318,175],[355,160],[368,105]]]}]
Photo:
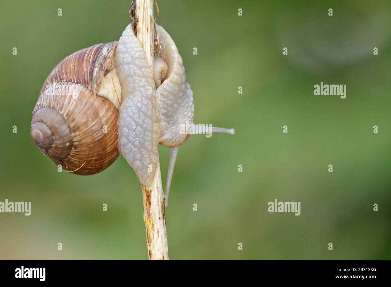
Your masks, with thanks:
[{"label": "blurred green background behind the snail and stem", "polygon": [[[52,68],[119,39],[130,2],[1,2],[0,201],[31,201],[32,214],[0,214],[0,259],[147,259],[142,192],[126,160],[93,176],[59,173],[30,138]],[[158,1],[195,123],[236,129],[181,147],[170,259],[391,259],[391,2],[323,2]],[[346,99],[314,96],[320,82],[346,84]],[[169,149],[159,152],[165,186]],[[274,199],[301,201],[301,215],[267,212]]]}]

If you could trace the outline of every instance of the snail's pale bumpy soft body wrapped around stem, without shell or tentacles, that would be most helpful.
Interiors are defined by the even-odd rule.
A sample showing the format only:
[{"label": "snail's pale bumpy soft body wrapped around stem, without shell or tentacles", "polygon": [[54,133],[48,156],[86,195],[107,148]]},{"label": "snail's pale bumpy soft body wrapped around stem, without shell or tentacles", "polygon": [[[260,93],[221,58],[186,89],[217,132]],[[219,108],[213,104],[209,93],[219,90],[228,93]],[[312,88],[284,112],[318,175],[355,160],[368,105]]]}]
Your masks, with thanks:
[{"label": "snail's pale bumpy soft body wrapped around stem, without shell or tentacles", "polygon": [[194,118],[193,92],[178,48],[159,25],[156,32],[160,46],[153,72],[132,25],[122,33],[115,54],[122,98],[118,148],[144,186],[156,171],[158,143],[180,146],[189,137],[180,133],[180,124],[192,124]]}]

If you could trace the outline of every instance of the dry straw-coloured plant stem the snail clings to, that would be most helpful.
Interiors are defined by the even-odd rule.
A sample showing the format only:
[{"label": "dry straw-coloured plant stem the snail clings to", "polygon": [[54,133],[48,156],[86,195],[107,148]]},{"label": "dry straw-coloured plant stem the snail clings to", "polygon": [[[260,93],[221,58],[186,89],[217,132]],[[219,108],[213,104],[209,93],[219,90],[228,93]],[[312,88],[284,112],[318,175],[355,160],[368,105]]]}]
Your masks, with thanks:
[{"label": "dry straw-coloured plant stem the snail clings to", "polygon": [[[153,0],[133,0],[131,16],[137,39],[144,49],[145,56],[152,70],[154,59]],[[159,159],[151,186],[142,186],[142,192],[149,260],[168,260],[169,253]]]}]

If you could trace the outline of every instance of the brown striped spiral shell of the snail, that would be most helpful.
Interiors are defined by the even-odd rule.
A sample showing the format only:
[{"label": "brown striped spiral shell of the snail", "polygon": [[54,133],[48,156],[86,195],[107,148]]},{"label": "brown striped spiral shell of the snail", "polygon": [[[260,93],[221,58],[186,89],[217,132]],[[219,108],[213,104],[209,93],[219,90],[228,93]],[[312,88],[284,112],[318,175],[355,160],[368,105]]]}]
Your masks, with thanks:
[{"label": "brown striped spiral shell of the snail", "polygon": [[118,153],[118,107],[97,93],[114,69],[117,42],[77,51],[45,80],[32,112],[30,134],[39,149],[65,171],[99,173]]}]

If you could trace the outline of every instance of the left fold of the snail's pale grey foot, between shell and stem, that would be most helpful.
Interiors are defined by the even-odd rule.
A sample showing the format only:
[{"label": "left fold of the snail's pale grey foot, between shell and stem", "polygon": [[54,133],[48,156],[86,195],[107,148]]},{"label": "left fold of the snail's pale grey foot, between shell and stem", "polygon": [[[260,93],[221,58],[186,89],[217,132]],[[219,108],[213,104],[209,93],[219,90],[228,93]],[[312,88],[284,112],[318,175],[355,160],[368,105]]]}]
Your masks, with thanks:
[{"label": "left fold of the snail's pale grey foot, between shell and stem", "polygon": [[118,149],[135,170],[140,183],[149,186],[156,172],[160,137],[156,89],[151,68],[131,24],[118,41],[115,66],[122,98]]}]

